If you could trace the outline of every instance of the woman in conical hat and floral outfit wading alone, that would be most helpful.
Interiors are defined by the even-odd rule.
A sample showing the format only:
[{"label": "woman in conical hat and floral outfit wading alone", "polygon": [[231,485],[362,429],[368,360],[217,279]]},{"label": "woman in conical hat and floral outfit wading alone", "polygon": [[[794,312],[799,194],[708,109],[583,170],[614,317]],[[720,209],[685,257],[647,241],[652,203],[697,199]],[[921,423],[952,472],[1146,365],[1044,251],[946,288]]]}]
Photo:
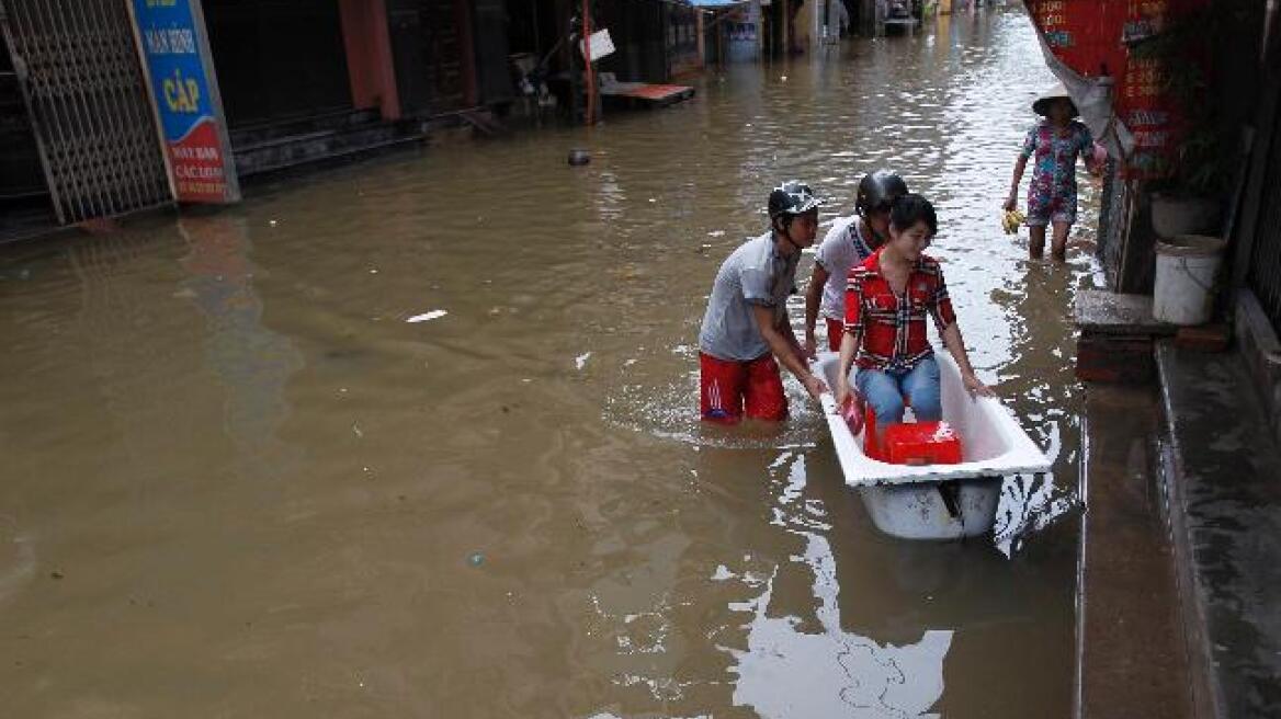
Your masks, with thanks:
[{"label": "woman in conical hat and floral outfit wading alone", "polygon": [[1032,160],[1032,180],[1027,187],[1027,252],[1039,258],[1045,251],[1045,228],[1053,226],[1050,253],[1063,260],[1067,252],[1067,234],[1076,221],[1076,162],[1093,162],[1094,138],[1090,130],[1075,118],[1080,115],[1076,102],[1062,83],[1032,102],[1032,111],[1041,119],[1027,130],[1024,148],[1015,162],[1015,178],[1004,209],[1018,206],[1018,184],[1024,179],[1027,160]]}]

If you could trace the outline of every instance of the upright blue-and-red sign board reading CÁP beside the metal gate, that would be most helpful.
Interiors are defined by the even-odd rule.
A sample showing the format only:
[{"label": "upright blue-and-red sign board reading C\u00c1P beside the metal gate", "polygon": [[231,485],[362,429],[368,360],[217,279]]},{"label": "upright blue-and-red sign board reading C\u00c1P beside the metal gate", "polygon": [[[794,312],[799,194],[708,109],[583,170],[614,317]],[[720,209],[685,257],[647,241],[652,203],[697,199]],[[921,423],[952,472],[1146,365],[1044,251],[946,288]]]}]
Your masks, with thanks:
[{"label": "upright blue-and-red sign board reading C\u00c1P beside the metal gate", "polygon": [[200,0],[129,0],[129,9],[178,202],[240,201]]}]

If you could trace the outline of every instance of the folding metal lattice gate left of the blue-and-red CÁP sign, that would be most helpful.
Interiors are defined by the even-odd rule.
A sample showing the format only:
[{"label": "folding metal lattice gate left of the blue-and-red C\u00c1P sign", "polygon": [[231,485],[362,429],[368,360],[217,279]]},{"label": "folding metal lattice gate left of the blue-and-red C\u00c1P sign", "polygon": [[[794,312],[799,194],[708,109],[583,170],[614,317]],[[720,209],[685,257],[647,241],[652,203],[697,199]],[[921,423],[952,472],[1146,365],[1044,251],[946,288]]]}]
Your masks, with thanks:
[{"label": "folding metal lattice gate left of the blue-and-red C\u00c1P sign", "polygon": [[0,0],[58,221],[173,201],[123,0]]}]

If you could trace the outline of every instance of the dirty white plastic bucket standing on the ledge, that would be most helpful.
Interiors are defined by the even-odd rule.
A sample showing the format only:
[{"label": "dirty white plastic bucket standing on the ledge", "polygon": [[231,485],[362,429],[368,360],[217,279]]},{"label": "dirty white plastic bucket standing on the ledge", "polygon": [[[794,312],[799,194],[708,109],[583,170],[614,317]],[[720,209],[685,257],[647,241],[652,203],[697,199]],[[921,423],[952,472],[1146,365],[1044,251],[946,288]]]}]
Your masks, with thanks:
[{"label": "dirty white plastic bucket standing on the ledge", "polygon": [[1181,234],[1157,243],[1152,316],[1175,325],[1199,325],[1214,310],[1214,278],[1227,242]]}]

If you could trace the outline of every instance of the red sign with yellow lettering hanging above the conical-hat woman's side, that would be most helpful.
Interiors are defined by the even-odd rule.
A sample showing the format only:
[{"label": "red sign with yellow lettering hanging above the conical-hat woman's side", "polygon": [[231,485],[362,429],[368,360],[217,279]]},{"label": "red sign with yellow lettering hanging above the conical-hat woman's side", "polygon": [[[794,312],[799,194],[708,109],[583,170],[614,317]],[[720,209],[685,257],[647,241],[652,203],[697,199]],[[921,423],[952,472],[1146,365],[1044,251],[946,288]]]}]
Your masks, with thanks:
[{"label": "red sign with yellow lettering hanging above the conical-hat woman's side", "polygon": [[1127,177],[1168,177],[1185,130],[1170,92],[1170,63],[1141,47],[1205,5],[1208,0],[1027,0],[1056,58],[1081,75],[1113,78],[1112,111],[1135,139],[1125,159]]}]

